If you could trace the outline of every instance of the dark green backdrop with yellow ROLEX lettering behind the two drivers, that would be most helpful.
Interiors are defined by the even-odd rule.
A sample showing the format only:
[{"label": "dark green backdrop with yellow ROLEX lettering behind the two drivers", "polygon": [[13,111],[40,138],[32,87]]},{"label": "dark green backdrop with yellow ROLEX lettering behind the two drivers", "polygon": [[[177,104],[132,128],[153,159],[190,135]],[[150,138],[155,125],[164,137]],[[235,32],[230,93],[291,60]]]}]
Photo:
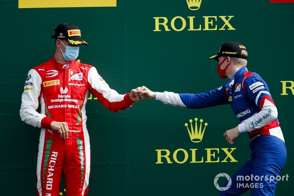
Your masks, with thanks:
[{"label": "dark green backdrop with yellow ROLEX lettering behind the two drivers", "polygon": [[[276,195],[293,192],[293,3],[203,0],[198,10],[189,9],[185,0],[117,0],[114,7],[31,9],[2,0],[0,6],[1,195],[35,195],[40,130],[20,120],[21,93],[29,69],[54,55],[50,36],[62,22],[79,26],[89,44],[81,46],[78,59],[95,66],[121,94],[142,85],[178,93],[219,87],[226,80],[218,77],[217,62],[208,58],[226,41],[243,43],[249,53],[248,70],[268,83],[288,150],[281,175],[289,178],[278,182]],[[232,145],[223,139],[223,133],[239,123],[229,105],[191,110],[143,100],[111,113],[92,97],[86,110],[91,138],[89,196],[218,195],[215,176],[232,175],[250,158],[246,133]],[[199,143],[191,142],[184,125],[194,118],[198,127],[203,119],[202,130],[208,123]],[[235,148],[233,159],[221,162],[227,156],[222,148],[229,152]],[[157,164],[158,153],[168,151],[173,163],[163,157]],[[203,157],[203,163],[190,163],[193,153],[194,162]],[[61,195],[66,195],[63,189],[64,181]]]}]

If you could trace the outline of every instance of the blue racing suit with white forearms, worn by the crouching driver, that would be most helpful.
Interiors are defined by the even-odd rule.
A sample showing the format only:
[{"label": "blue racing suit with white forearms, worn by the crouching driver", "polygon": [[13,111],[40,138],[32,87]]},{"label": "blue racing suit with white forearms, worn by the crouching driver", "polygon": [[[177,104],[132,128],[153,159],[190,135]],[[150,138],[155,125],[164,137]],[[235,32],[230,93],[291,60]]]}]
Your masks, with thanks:
[{"label": "blue racing suit with white forearms, worn by the crouching driver", "polygon": [[[250,187],[238,188],[238,175],[265,176],[280,174],[287,157],[285,140],[278,121],[278,111],[265,81],[251,73],[245,66],[240,68],[227,83],[215,90],[199,94],[156,92],[156,100],[184,108],[207,108],[230,104],[241,123],[239,132],[248,132],[251,140],[251,159],[232,177],[232,185],[221,195],[240,195]],[[274,149],[274,150],[273,150]],[[248,182],[246,182],[248,183]],[[277,180],[253,179],[249,183],[262,183],[252,188],[252,195],[274,195]],[[225,183],[224,187],[227,185]]]}]

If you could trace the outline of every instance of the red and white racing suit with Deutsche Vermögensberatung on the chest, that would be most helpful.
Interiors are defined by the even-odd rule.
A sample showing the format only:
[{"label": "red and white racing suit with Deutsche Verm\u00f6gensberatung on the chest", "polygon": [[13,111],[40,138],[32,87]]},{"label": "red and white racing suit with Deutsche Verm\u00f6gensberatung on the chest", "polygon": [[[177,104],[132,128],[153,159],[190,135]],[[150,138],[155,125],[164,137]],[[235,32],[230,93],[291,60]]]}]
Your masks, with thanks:
[{"label": "red and white racing suit with Deutsche Verm\u00f6gensberatung on the chest", "polygon": [[[59,63],[55,57],[32,68],[26,78],[21,119],[41,128],[37,161],[37,195],[59,195],[64,172],[67,196],[85,196],[90,175],[90,143],[86,128],[89,91],[112,112],[129,108],[129,93],[118,94],[95,67],[73,60]],[[36,110],[40,103],[41,112]],[[67,122],[69,137],[50,128],[52,121]]]}]

